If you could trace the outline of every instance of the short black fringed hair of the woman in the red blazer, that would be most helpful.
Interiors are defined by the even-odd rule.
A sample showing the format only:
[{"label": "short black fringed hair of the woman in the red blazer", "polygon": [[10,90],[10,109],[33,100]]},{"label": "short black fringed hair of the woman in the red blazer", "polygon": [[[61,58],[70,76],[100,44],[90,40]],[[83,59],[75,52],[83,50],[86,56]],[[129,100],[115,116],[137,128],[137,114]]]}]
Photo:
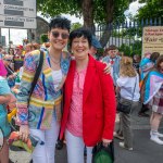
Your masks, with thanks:
[{"label": "short black fringed hair of the woman in the red blazer", "polygon": [[76,38],[76,37],[79,38],[82,36],[88,40],[88,45],[89,45],[89,48],[90,48],[91,47],[91,36],[92,35],[91,35],[91,32],[89,29],[84,28],[84,27],[77,28],[77,29],[71,32],[71,34],[70,34],[70,48],[72,48],[73,39]]}]

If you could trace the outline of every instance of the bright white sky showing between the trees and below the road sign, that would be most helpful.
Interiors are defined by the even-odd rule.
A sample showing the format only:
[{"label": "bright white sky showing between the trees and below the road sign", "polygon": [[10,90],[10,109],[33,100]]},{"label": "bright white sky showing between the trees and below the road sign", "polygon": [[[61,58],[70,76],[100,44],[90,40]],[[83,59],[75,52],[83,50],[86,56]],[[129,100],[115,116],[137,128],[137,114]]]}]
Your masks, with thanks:
[{"label": "bright white sky showing between the trees and below the road sign", "polygon": [[[133,3],[130,3],[129,10],[127,10],[125,12],[125,14],[128,15],[129,13],[131,13],[133,15],[135,15],[137,10],[143,4],[139,4],[138,0],[137,0]],[[41,16],[40,13],[38,13],[37,15]],[[78,17],[75,17],[75,16],[67,15],[67,14],[63,14],[63,16],[70,18],[72,23],[79,22],[79,23],[83,24],[83,18],[78,18]],[[50,18],[48,18],[47,21],[49,22]],[[9,28],[1,28],[1,35],[5,36],[5,42],[8,45],[9,43]],[[27,38],[27,30],[26,29],[10,28],[10,40],[13,41],[13,45],[22,45],[22,40],[25,39],[25,38]]]}]

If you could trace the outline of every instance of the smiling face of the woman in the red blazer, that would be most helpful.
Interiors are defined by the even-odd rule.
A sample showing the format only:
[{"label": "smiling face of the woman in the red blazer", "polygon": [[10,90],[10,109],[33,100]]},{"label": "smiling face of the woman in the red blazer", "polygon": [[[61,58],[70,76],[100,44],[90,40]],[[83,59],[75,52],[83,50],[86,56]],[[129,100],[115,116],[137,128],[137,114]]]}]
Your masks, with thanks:
[{"label": "smiling face of the woman in the red blazer", "polygon": [[88,58],[89,43],[84,36],[76,37],[72,41],[72,51],[76,60],[85,60]]}]

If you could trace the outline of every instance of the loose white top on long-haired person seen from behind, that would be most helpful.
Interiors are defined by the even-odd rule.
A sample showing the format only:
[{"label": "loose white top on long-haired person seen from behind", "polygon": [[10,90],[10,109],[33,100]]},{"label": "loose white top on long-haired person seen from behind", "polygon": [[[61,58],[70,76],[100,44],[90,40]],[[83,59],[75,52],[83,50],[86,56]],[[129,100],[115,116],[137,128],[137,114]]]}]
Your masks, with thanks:
[{"label": "loose white top on long-haired person seen from behind", "polygon": [[[136,82],[136,88],[134,92],[134,87],[135,87],[135,82]],[[140,89],[139,89],[139,76],[135,77],[122,77],[116,80],[117,86],[121,88],[120,95],[122,98],[128,99],[133,101],[139,101],[140,98]],[[134,93],[134,98],[133,98]]]}]

